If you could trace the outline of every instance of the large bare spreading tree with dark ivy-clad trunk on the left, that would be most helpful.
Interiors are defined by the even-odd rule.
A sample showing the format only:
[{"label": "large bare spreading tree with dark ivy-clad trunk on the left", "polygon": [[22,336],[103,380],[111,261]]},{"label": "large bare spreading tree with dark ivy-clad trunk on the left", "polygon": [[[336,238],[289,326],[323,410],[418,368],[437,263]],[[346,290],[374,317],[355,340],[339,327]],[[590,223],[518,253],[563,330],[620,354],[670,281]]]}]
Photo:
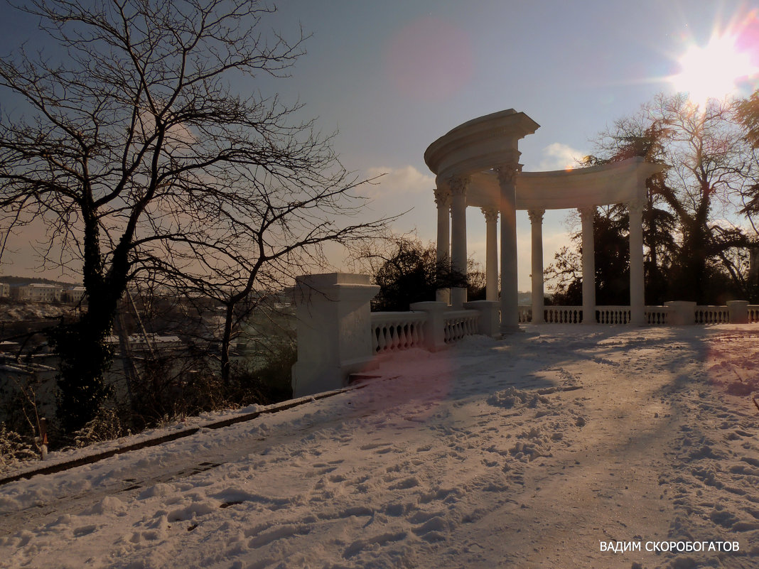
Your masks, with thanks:
[{"label": "large bare spreading tree with dark ivy-clad trunk on the left", "polygon": [[[118,299],[151,275],[235,303],[281,282],[345,224],[354,180],[301,105],[255,91],[303,53],[263,31],[255,0],[33,0],[60,50],[20,49],[0,85],[28,112],[0,118],[5,221],[46,223],[47,266],[80,269],[89,310],[52,338],[65,426],[106,395]],[[254,94],[236,93],[247,81]],[[342,225],[340,225],[342,223]],[[314,248],[317,250],[314,251]],[[228,345],[228,344],[227,344]]]}]

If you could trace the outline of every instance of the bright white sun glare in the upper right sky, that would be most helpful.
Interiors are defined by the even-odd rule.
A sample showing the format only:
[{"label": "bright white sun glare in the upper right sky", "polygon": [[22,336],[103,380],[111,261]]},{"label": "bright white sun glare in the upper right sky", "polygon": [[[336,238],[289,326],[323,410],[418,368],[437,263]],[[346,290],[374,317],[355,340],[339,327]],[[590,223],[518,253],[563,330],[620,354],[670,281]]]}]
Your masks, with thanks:
[{"label": "bright white sun glare in the upper right sky", "polygon": [[735,93],[759,71],[752,61],[755,54],[739,39],[739,34],[726,32],[713,35],[706,46],[689,46],[678,59],[680,72],[669,77],[672,86],[701,105]]}]

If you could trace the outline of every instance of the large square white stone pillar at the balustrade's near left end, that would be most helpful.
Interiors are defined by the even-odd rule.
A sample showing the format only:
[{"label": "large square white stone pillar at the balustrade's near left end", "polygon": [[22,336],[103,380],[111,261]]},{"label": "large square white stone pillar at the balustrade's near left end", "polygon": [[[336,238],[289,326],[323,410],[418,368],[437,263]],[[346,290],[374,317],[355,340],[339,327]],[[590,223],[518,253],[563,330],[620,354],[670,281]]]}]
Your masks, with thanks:
[{"label": "large square white stone pillar at the balustrade's near left end", "polygon": [[370,300],[377,292],[369,275],[330,272],[295,280],[294,397],[342,388],[351,373],[371,368]]}]

